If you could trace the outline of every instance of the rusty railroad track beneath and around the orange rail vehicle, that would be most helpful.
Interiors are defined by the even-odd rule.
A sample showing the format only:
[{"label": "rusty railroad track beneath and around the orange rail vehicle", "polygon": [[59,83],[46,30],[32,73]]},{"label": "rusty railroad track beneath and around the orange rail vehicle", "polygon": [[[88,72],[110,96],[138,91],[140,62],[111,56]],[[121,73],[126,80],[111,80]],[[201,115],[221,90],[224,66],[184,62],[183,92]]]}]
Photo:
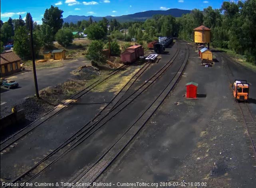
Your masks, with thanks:
[{"label": "rusty railroad track beneath and around the orange rail vehicle", "polygon": [[[228,76],[228,80],[230,85],[233,83],[235,80],[234,74],[230,69],[230,66],[228,65],[228,62],[225,63],[226,66],[223,63],[223,67],[226,71],[226,74]],[[233,91],[231,90],[231,95],[233,96]],[[239,102],[234,99],[235,103],[238,104],[238,107],[241,111],[242,119],[244,121],[244,125],[246,127],[249,141],[248,144],[249,146],[249,151],[250,151],[250,156],[253,157],[254,159],[256,158],[256,121],[254,120],[254,117],[248,107],[248,104],[246,101],[244,102]],[[254,166],[256,166],[256,162],[254,160]]]}]

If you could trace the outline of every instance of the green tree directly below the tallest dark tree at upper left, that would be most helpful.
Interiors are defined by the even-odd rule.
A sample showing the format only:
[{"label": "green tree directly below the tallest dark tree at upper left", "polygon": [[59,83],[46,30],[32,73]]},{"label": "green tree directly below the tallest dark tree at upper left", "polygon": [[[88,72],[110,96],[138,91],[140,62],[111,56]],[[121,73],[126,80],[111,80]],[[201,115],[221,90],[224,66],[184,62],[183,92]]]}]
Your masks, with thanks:
[{"label": "green tree directly below the tallest dark tree at upper left", "polygon": [[52,45],[54,42],[54,30],[47,24],[42,24],[40,27],[39,33],[40,41],[42,42],[43,46]]}]

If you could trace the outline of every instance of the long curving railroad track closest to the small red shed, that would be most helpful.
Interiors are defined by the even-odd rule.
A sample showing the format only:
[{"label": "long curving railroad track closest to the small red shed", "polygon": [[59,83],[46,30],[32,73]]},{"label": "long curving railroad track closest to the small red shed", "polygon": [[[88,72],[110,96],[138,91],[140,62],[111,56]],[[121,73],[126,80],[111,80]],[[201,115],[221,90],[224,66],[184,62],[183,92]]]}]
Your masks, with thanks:
[{"label": "long curving railroad track closest to the small red shed", "polygon": [[[186,45],[187,46],[187,45]],[[134,121],[134,123],[119,137],[119,139],[93,164],[89,170],[83,172],[78,176],[75,182],[95,182],[95,180],[106,170],[106,168],[117,158],[117,156],[124,150],[124,148],[132,141],[132,139],[139,133],[141,128],[147,123],[147,121],[154,115],[157,109],[168,97],[169,93],[173,90],[177,82],[179,81],[189,58],[188,48],[186,49],[186,55],[175,73],[173,78],[169,81],[168,85],[161,91],[157,98],[149,105],[145,111]],[[70,188],[73,186],[70,186]],[[89,187],[89,186],[87,186]]]}]

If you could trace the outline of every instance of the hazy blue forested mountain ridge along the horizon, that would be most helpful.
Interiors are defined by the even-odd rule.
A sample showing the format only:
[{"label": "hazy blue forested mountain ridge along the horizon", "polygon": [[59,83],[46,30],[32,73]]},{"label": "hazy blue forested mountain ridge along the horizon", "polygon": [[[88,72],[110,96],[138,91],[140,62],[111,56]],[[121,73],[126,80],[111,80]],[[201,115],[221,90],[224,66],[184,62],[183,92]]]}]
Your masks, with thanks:
[{"label": "hazy blue forested mountain ridge along the horizon", "polygon": [[[181,10],[177,8],[169,9],[169,10],[149,10],[145,12],[137,12],[135,14],[128,14],[123,16],[105,16],[107,20],[113,20],[114,18],[118,22],[134,22],[134,21],[145,21],[147,18],[152,18],[153,15],[161,14],[161,15],[171,15],[173,17],[181,17],[183,14],[190,13],[191,10]],[[77,21],[81,20],[89,20],[90,17],[93,19],[93,21],[100,21],[103,17],[95,17],[95,16],[74,16],[69,15],[67,18],[63,18],[64,22],[73,22],[77,23]]]}]

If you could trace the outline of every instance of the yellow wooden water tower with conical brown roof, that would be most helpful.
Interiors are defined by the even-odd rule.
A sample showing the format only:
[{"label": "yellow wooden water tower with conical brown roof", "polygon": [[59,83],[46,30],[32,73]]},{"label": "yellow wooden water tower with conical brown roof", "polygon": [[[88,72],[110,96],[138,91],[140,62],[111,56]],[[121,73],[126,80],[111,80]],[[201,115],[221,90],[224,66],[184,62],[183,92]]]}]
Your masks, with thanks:
[{"label": "yellow wooden water tower with conical brown roof", "polygon": [[205,26],[199,26],[198,28],[194,28],[194,42],[196,44],[208,44],[208,49],[210,47],[211,42],[211,30]]}]

